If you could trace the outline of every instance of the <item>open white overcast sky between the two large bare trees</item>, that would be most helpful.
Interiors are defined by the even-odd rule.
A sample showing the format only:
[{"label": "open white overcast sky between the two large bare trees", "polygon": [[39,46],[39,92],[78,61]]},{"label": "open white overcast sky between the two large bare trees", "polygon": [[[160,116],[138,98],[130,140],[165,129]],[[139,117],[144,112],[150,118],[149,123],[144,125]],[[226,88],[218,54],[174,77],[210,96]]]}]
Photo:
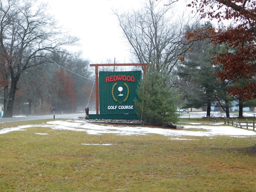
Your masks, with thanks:
[{"label": "open white overcast sky between the two large bare trees", "polygon": [[129,63],[129,47],[111,8],[136,8],[140,0],[44,0],[50,12],[70,34],[80,38],[83,57],[91,63],[104,63],[114,57],[119,63]]}]

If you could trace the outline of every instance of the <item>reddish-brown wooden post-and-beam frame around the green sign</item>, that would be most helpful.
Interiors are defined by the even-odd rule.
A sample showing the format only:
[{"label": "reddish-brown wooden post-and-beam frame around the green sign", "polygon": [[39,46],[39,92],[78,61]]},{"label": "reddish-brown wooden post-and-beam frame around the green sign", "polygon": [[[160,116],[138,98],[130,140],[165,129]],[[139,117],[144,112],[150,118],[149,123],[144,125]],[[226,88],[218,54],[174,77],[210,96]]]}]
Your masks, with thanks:
[{"label": "reddish-brown wooden post-and-beam frame around the green sign", "polygon": [[[96,81],[96,114],[99,114],[99,80],[98,80],[98,67],[99,66],[143,66],[144,75],[146,75],[146,70],[148,63],[125,63],[125,64],[90,64],[91,67],[95,66],[95,81]],[[110,80],[110,79],[109,79]],[[113,76],[112,76],[113,80]]]}]

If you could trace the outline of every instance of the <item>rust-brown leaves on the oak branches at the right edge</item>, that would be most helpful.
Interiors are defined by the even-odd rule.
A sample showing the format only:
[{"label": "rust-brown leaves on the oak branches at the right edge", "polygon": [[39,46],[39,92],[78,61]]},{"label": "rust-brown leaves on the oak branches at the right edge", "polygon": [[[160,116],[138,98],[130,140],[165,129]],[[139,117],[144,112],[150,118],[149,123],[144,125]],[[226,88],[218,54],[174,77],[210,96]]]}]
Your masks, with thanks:
[{"label": "rust-brown leaves on the oak branches at the right edge", "polygon": [[233,26],[218,30],[197,30],[187,33],[187,38],[190,42],[210,38],[214,44],[225,45],[226,52],[218,53],[213,58],[213,64],[222,67],[217,76],[222,81],[243,79],[242,87],[228,89],[230,94],[242,96],[244,99],[256,98],[256,1],[196,0],[188,6],[196,8],[201,18],[208,17],[219,22],[232,20]]}]

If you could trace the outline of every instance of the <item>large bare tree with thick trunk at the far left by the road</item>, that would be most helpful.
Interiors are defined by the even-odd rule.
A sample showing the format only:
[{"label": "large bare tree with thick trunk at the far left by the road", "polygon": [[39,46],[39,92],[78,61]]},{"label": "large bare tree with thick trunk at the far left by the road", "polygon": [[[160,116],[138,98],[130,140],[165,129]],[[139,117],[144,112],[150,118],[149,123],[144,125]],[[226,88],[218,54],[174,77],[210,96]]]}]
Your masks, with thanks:
[{"label": "large bare tree with thick trunk at the far left by the road", "polygon": [[[37,0],[2,0],[0,2],[0,68],[4,84],[4,117],[12,117],[17,84],[28,68],[51,62],[51,52],[61,46],[75,44],[77,38],[68,36],[57,27],[47,13],[47,5]],[[38,59],[40,58],[40,60]]]}]

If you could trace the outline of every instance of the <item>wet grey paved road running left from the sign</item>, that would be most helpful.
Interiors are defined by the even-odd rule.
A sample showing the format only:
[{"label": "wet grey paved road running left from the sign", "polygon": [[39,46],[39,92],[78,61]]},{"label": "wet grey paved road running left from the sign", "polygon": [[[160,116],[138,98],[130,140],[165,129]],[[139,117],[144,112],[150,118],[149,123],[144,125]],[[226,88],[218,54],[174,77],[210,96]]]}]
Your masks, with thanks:
[{"label": "wet grey paved road running left from the sign", "polygon": [[[68,118],[74,118],[74,117],[79,117],[84,115],[85,113],[55,114],[55,119],[68,119]],[[30,121],[30,120],[40,120],[40,119],[53,119],[53,114],[41,115],[41,116],[15,116],[11,118],[0,118],[0,123]]]}]

